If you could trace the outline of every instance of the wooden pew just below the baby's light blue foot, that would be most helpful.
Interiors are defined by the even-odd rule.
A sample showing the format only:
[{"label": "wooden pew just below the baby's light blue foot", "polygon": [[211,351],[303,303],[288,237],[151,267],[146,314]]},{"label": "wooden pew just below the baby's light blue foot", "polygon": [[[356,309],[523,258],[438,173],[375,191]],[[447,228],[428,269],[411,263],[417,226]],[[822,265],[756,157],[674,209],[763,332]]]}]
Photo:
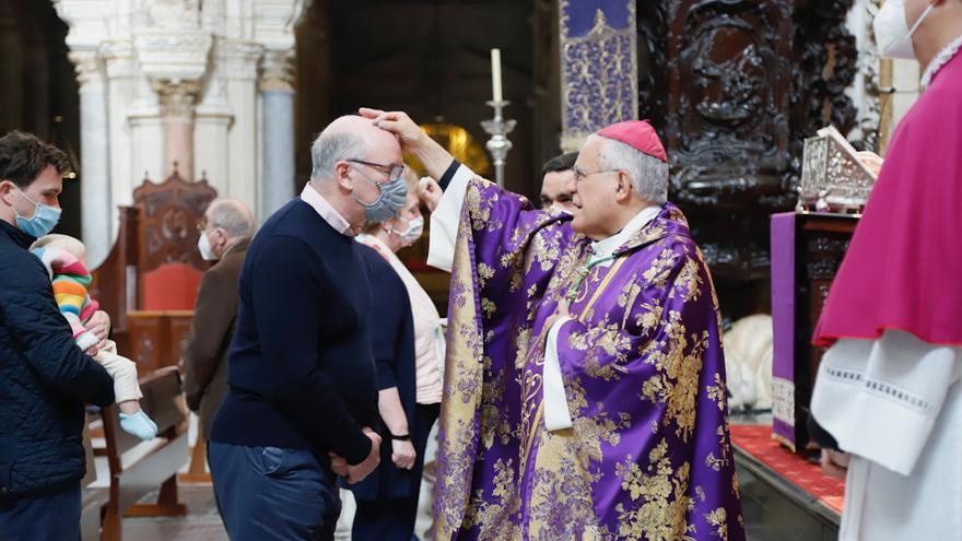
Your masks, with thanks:
[{"label": "wooden pew just below the baby's light blue foot", "polygon": [[[175,367],[160,369],[140,380],[140,403],[157,424],[157,438],[142,443],[120,428],[119,411],[105,408],[107,462],[110,470],[109,501],[104,508],[102,540],[122,538],[122,517],[184,516],[187,508],[177,499],[177,471],[187,463],[187,415],[180,396],[180,375]],[[143,455],[125,457],[139,445]],[[160,489],[155,504],[138,504]]]}]

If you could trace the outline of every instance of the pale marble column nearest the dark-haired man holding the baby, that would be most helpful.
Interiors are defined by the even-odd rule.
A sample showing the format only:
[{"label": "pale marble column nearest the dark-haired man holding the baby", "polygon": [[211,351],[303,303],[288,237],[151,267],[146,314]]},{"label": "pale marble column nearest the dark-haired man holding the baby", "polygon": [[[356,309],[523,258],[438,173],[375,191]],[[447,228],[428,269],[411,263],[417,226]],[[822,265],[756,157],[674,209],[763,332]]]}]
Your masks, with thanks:
[{"label": "pale marble column nearest the dark-haired man holding the baby", "polygon": [[80,83],[80,195],[87,268],[98,267],[110,251],[109,130],[107,85],[95,51],[71,52]]}]

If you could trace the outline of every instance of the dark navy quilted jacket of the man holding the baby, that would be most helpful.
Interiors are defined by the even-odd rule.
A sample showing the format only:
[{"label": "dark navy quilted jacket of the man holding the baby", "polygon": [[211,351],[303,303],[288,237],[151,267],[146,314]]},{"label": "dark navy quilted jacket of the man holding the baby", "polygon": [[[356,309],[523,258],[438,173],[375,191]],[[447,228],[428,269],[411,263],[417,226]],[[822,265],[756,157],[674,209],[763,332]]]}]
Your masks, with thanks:
[{"label": "dark navy quilted jacket of the man holding the baby", "polygon": [[83,477],[83,403],[114,402],[114,381],[83,354],[54,301],[34,237],[0,220],[0,499]]}]

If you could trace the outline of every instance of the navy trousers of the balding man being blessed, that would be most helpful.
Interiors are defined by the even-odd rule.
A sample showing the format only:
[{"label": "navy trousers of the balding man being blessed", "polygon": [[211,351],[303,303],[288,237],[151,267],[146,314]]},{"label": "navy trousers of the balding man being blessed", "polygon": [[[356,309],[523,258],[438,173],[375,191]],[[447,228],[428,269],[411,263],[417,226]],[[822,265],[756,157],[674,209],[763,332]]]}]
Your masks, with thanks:
[{"label": "navy trousers of the balding man being blessed", "polygon": [[232,541],[333,539],[341,502],[309,451],[211,442],[208,461]]}]

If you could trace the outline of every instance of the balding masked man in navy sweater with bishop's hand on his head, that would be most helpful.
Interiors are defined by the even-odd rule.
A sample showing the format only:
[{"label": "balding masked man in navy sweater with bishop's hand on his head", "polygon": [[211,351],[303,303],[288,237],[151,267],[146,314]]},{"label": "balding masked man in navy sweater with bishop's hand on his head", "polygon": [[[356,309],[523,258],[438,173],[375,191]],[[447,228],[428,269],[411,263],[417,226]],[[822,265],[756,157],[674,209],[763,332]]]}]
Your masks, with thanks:
[{"label": "balding masked man in navy sweater with bishop's hand on his head", "polygon": [[230,390],[209,448],[235,541],[331,539],[335,474],[354,483],[379,462],[371,289],[352,237],[403,203],[401,150],[351,116],[318,136],[312,157],[310,181],[263,224],[241,273]]}]

